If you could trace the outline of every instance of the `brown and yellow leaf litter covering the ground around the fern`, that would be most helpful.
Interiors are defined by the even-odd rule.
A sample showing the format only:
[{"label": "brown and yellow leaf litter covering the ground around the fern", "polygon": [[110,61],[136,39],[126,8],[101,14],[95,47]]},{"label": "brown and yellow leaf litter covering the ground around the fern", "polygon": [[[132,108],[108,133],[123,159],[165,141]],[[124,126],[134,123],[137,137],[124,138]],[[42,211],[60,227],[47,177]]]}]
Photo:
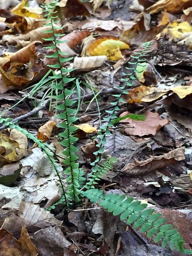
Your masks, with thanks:
[{"label": "brown and yellow leaf litter covering the ground around the fern", "polygon": [[[33,92],[34,84],[46,81],[47,65],[55,64],[45,57],[54,52],[43,48],[52,35],[43,33],[50,27],[42,27],[46,23],[40,4],[50,1],[31,2],[0,1],[0,112],[9,109],[4,117],[20,117],[51,95],[46,82]],[[116,87],[126,83],[131,55],[143,42],[154,42],[148,63],[138,67],[138,80],[117,113],[146,119],[126,117],[115,124],[104,149],[118,164],[99,187],[153,205],[192,249],[192,1],[62,0],[57,11],[67,40],[60,50],[67,58],[76,56],[65,68],[73,67],[81,77],[76,145],[86,174],[97,151],[97,104],[103,121]],[[15,106],[23,95],[25,100]],[[24,116],[18,124],[50,144],[62,170],[60,120],[55,118],[54,100],[50,106],[47,102],[36,116]],[[118,216],[86,200],[69,213],[62,204],[47,211],[61,196],[57,176],[43,152],[17,131],[0,133],[0,159],[0,255],[183,255],[153,244]],[[7,176],[9,183],[4,183]]]}]

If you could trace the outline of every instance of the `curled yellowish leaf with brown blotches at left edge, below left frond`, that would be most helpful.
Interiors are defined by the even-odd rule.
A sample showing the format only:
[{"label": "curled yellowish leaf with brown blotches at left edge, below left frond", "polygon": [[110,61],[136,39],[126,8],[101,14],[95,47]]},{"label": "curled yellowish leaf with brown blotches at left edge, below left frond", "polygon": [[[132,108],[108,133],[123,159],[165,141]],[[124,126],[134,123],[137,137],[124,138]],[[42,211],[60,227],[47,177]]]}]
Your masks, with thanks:
[{"label": "curled yellowish leaf with brown blotches at left edge, below left frond", "polygon": [[12,129],[9,136],[0,132],[0,167],[21,159],[27,146],[27,136],[16,129]]}]

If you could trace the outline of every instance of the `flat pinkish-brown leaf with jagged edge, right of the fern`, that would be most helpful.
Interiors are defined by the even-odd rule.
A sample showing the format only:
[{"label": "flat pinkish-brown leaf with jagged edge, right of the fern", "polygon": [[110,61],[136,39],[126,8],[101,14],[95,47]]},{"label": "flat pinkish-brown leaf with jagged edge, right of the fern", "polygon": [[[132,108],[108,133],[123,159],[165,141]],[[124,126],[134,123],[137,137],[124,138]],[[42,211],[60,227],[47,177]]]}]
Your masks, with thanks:
[{"label": "flat pinkish-brown leaf with jagged edge, right of the fern", "polygon": [[[123,112],[121,116],[126,116],[131,114],[129,112]],[[129,124],[123,124],[125,128],[125,132],[127,135],[137,135],[137,136],[145,136],[145,135],[155,135],[161,127],[168,124],[169,121],[166,119],[160,119],[158,113],[152,113],[147,111],[145,114],[145,121],[136,121],[129,117],[121,120],[120,122],[129,122]]]}]

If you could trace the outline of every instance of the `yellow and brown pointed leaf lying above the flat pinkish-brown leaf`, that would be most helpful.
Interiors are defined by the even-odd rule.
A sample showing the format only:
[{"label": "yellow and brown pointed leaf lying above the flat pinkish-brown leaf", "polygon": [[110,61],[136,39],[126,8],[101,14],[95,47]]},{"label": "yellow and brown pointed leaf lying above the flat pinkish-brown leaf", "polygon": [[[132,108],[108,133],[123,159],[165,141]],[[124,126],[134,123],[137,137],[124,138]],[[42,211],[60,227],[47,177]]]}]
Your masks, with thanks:
[{"label": "yellow and brown pointed leaf lying above the flat pinkish-brown leaf", "polygon": [[129,103],[151,102],[153,100],[157,100],[167,92],[169,92],[169,90],[163,90],[158,87],[140,86],[131,90],[128,94],[125,94],[122,97]]}]

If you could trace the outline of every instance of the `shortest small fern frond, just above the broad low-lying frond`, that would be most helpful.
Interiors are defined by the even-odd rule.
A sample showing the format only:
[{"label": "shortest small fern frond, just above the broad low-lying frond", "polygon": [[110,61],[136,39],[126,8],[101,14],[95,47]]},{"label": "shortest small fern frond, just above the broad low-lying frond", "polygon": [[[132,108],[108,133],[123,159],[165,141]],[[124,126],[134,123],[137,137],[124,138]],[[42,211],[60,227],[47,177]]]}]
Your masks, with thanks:
[{"label": "shortest small fern frond, just above the broad low-lying frond", "polygon": [[100,178],[102,178],[106,173],[113,169],[113,166],[116,164],[116,162],[117,159],[115,157],[110,157],[106,161],[101,162],[101,166],[97,164],[89,174],[88,181],[84,185],[84,188],[94,188],[94,185],[98,184]]}]

